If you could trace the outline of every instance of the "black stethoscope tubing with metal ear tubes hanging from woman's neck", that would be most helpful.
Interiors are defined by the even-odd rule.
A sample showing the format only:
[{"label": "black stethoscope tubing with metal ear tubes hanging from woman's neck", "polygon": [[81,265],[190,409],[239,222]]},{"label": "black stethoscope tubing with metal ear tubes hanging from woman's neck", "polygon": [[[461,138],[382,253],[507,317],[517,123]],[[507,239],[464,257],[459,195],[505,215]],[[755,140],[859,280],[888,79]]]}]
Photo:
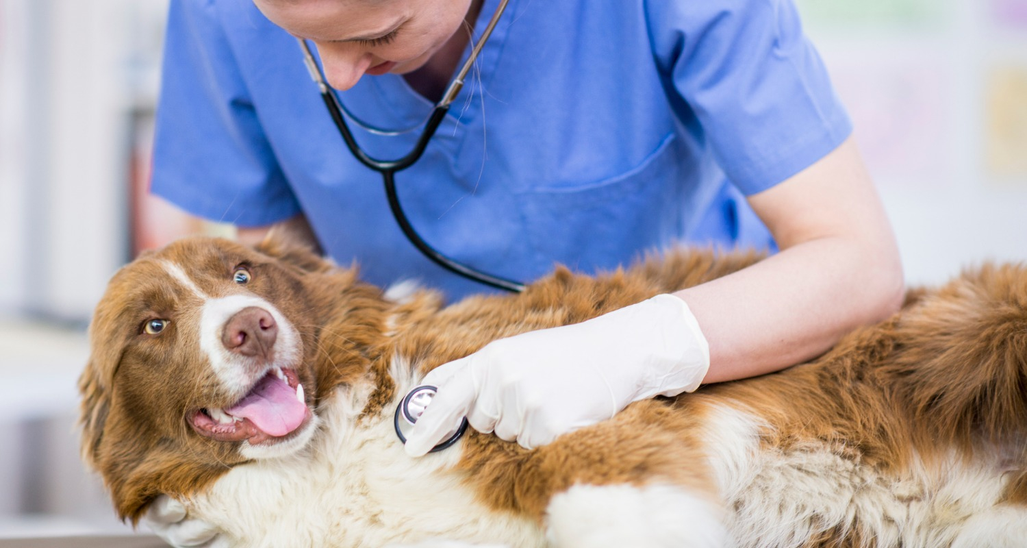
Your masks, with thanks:
[{"label": "black stethoscope tubing with metal ear tubes hanging from woman's neck", "polygon": [[[342,105],[339,99],[332,92],[332,88],[329,87],[328,83],[326,83],[325,75],[321,72],[320,67],[314,61],[313,53],[310,51],[310,46],[307,44],[306,40],[301,38],[299,39],[299,42],[303,49],[304,61],[307,65],[307,70],[310,72],[310,77],[313,78],[314,83],[317,84],[317,87],[320,90],[321,99],[325,101],[325,106],[328,108],[328,112],[331,114],[332,120],[335,121],[336,126],[339,129],[339,133],[342,134],[342,140],[345,141],[346,147],[349,148],[349,151],[353,153],[353,156],[356,157],[360,163],[364,163],[371,170],[382,174],[382,180],[385,183],[385,193],[388,196],[389,209],[392,210],[392,215],[395,217],[395,221],[398,223],[400,228],[403,229],[403,233],[406,234],[407,239],[410,240],[412,244],[414,244],[414,247],[416,247],[421,253],[424,254],[424,256],[431,259],[436,264],[464,278],[481,282],[494,288],[521,292],[524,291],[524,284],[492,276],[467,266],[466,264],[457,262],[429,246],[410,224],[410,220],[404,213],[403,208],[400,207],[400,198],[395,191],[395,172],[410,168],[421,157],[421,154],[424,153],[424,149],[427,147],[428,141],[433,135],[435,135],[439,124],[442,123],[443,117],[446,116],[446,113],[449,111],[450,104],[456,100],[457,94],[459,94],[460,89],[463,87],[463,79],[473,66],[474,60],[478,59],[478,54],[482,50],[482,46],[484,46],[485,42],[488,41],[496,23],[499,22],[499,16],[502,15],[503,10],[506,9],[507,2],[508,0],[500,0],[499,7],[496,8],[496,11],[493,13],[488,26],[482,32],[482,37],[478,43],[474,44],[467,61],[460,68],[460,71],[457,72],[453,81],[450,82],[449,87],[447,87],[446,93],[443,95],[443,98],[435,103],[435,106],[431,109],[431,113],[428,114],[427,119],[423,122],[424,129],[421,132],[421,136],[417,139],[417,143],[414,145],[414,148],[406,156],[396,159],[378,159],[365,152],[364,149],[362,149],[356,143],[356,139],[353,138],[352,132],[349,131],[345,117],[349,117],[362,127],[378,135],[398,135],[412,131],[414,127],[402,131],[384,131],[371,124],[364,123],[359,118],[353,116],[352,113],[346,110],[346,108]],[[343,113],[345,113],[345,116],[343,116]]]}]

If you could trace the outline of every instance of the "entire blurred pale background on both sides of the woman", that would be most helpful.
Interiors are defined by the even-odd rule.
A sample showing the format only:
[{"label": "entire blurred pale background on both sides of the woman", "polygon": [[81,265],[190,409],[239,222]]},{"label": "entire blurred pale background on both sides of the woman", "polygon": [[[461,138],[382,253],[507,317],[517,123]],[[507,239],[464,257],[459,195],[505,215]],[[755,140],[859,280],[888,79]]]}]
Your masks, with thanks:
[{"label": "entire blurred pale background on both sides of the woman", "polygon": [[[910,283],[1027,260],[1027,0],[799,5]],[[145,196],[165,9],[0,0],[0,537],[124,531],[78,463],[85,324],[139,249],[228,230]]]}]

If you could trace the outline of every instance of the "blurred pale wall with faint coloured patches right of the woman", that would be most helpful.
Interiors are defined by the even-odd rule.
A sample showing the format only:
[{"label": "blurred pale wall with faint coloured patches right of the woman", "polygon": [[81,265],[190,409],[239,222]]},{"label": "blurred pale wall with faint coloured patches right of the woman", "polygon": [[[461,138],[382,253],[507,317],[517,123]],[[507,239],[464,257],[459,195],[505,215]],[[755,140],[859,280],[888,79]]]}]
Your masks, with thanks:
[{"label": "blurred pale wall with faint coloured patches right of the woman", "polygon": [[799,4],[910,283],[1027,260],[1027,0]]}]

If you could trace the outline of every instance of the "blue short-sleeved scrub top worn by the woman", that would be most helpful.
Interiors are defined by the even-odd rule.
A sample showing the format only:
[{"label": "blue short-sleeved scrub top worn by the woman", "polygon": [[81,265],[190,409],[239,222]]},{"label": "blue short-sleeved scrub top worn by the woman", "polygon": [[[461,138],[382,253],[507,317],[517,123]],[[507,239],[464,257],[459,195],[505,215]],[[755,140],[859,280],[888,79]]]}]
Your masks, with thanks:
[{"label": "blue short-sleeved scrub top worn by the woman", "polygon": [[[497,3],[485,0],[476,29]],[[431,108],[393,74],[339,97],[385,127]],[[850,131],[789,0],[510,0],[424,156],[396,182],[429,244],[530,282],[555,263],[609,269],[680,242],[772,249],[745,196]],[[385,158],[419,134],[354,132]],[[488,290],[406,241],[296,40],[250,0],[172,1],[152,189],[241,226],[302,211],[330,256],[380,285],[416,279],[452,298]]]}]

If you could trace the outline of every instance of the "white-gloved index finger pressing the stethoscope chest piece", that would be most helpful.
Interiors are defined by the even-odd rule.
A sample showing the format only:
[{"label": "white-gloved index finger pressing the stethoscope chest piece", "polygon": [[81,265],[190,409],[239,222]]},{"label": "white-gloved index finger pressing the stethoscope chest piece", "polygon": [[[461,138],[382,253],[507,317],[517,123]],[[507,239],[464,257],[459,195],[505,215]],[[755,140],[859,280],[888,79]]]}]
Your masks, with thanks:
[{"label": "white-gloved index finger pressing the stethoscope chest piece", "polygon": [[469,371],[458,371],[438,388],[435,397],[407,436],[404,449],[411,456],[426,454],[456,431],[477,396],[473,375]]}]

